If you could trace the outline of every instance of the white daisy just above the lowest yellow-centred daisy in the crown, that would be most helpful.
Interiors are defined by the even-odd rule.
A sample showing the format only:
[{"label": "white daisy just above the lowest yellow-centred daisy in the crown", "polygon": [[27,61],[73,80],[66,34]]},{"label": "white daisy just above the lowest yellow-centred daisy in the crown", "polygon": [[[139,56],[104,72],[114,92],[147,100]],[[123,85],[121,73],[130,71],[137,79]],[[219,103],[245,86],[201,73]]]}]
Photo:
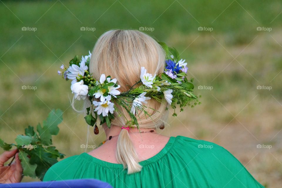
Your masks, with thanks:
[{"label": "white daisy just above the lowest yellow-centred daisy in the crown", "polygon": [[[106,80],[106,76],[105,76],[105,74],[102,74],[101,77],[100,77],[100,84],[103,84],[105,82],[105,80]],[[107,78],[107,81],[108,81],[108,83],[111,83],[111,82],[114,83],[114,84],[117,83],[117,79],[116,78],[114,78],[112,80],[110,78]],[[96,82],[96,85],[98,85],[98,84]],[[120,85],[117,85],[117,87],[115,87],[115,85],[111,85],[111,86],[108,86],[108,90],[109,90],[108,94],[109,95],[104,96],[104,93],[106,93],[106,89],[105,88],[101,88],[100,90],[98,90],[93,95],[95,95],[95,98],[99,98],[100,97],[101,101],[111,100],[111,95],[116,98],[117,97],[116,95],[120,94],[120,91],[117,90],[118,88],[120,88]]]}]

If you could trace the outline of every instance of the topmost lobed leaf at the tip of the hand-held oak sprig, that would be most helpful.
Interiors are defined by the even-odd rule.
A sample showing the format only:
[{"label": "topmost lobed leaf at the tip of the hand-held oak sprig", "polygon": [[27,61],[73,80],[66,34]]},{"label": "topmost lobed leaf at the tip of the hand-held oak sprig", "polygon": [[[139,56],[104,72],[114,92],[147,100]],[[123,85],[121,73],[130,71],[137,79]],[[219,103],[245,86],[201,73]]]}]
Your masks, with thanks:
[{"label": "topmost lobed leaf at the tip of the hand-held oak sprig", "polygon": [[43,120],[43,127],[47,127],[51,135],[57,135],[58,125],[63,121],[63,112],[60,109],[52,110],[46,120]]}]

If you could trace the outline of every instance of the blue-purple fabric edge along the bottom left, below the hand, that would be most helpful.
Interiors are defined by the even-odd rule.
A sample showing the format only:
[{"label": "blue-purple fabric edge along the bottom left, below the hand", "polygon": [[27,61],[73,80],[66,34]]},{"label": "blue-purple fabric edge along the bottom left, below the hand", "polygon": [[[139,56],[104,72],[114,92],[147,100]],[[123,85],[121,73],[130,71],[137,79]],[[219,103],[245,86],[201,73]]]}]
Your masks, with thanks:
[{"label": "blue-purple fabric edge along the bottom left, below the hand", "polygon": [[75,179],[52,182],[28,182],[0,184],[0,188],[112,188],[108,183],[96,179]]}]

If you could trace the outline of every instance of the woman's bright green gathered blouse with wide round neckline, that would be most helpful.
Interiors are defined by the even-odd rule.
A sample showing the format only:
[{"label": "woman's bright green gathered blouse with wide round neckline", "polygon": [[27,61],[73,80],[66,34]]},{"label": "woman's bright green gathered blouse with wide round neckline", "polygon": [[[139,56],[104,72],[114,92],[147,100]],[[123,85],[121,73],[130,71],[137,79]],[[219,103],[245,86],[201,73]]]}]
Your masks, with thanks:
[{"label": "woman's bright green gathered blouse with wide round neckline", "polygon": [[43,181],[94,178],[113,187],[263,187],[227,150],[212,142],[170,137],[155,156],[141,161],[142,170],[127,174],[122,164],[87,153],[54,164]]}]

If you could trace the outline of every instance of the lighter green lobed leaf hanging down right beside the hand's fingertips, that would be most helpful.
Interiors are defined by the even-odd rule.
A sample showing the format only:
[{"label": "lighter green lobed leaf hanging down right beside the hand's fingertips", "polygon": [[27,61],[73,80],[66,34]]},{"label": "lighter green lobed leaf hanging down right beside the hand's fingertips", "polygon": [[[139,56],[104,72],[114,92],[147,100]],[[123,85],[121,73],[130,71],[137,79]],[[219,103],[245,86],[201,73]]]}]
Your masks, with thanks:
[{"label": "lighter green lobed leaf hanging down right beside the hand's fingertips", "polygon": [[21,160],[21,166],[23,167],[23,174],[25,176],[30,176],[35,178],[35,169],[37,167],[37,164],[30,164],[30,159],[27,157],[28,154],[24,151],[19,151],[19,159]]}]

